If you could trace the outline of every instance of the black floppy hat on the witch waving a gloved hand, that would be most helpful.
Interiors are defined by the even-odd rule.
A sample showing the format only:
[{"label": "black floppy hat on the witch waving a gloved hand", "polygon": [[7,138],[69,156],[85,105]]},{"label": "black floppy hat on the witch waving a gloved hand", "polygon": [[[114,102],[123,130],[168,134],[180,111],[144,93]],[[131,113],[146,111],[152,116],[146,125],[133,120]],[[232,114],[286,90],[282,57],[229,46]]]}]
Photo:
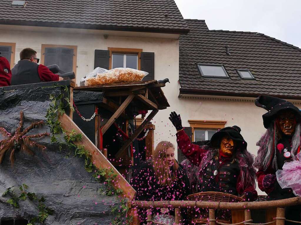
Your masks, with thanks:
[{"label": "black floppy hat on the witch waving a gloved hand", "polygon": [[240,134],[240,131],[241,129],[238,126],[225,127],[213,134],[209,141],[200,141],[194,143],[197,145],[209,145],[213,148],[219,148],[221,139],[225,136],[229,136],[233,141],[235,141],[238,148],[244,150],[247,149],[247,142],[244,140],[244,137]]}]

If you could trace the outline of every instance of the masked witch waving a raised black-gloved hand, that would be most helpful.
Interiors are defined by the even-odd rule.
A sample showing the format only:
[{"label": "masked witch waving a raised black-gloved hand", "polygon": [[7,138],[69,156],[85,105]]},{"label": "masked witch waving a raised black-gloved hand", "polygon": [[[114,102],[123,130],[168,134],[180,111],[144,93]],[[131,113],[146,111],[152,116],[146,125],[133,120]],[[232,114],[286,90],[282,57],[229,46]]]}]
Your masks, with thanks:
[{"label": "masked witch waving a raised black-gloved hand", "polygon": [[191,143],[184,132],[180,115],[172,112],[169,119],[177,129],[179,149],[200,168],[200,192],[245,195],[245,201],[256,199],[254,159],[247,151],[247,142],[239,127],[223,128],[210,141],[198,145]]}]

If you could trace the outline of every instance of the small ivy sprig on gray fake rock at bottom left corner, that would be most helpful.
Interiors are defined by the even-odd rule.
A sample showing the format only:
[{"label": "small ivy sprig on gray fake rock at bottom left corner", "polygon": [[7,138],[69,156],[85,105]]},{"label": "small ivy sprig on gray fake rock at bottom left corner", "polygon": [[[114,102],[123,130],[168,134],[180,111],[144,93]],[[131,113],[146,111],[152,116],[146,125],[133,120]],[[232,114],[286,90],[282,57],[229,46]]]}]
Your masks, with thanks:
[{"label": "small ivy sprig on gray fake rock at bottom left corner", "polygon": [[48,215],[53,214],[54,211],[51,208],[45,206],[45,198],[43,196],[37,196],[36,193],[28,192],[28,186],[26,184],[19,186],[19,189],[21,191],[20,195],[17,195],[17,193],[15,193],[15,191],[12,189],[13,187],[8,187],[2,194],[3,197],[7,195],[10,196],[10,199],[6,201],[8,204],[19,208],[19,201],[25,201],[28,198],[34,204],[36,204],[39,209],[39,214],[36,217],[31,218],[27,225],[35,225],[37,222],[44,223]]}]

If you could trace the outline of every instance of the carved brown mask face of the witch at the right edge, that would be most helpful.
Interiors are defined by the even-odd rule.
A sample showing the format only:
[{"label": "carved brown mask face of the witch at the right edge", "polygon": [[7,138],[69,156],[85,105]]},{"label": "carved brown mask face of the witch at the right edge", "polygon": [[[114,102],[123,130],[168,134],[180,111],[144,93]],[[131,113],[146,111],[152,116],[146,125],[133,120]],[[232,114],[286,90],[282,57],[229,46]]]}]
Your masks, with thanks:
[{"label": "carved brown mask face of the witch at the right edge", "polygon": [[284,135],[291,136],[294,134],[297,124],[295,113],[290,110],[280,112],[276,122]]}]

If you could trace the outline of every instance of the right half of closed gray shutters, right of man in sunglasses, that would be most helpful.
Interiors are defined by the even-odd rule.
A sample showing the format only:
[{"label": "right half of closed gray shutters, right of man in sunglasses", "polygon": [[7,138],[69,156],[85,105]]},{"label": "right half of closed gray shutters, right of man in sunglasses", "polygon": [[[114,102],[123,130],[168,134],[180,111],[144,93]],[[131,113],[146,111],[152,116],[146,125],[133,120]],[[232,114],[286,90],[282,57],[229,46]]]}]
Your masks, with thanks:
[{"label": "right half of closed gray shutters, right of man in sunglasses", "polygon": [[65,73],[73,71],[73,49],[72,48],[58,48],[58,66],[60,70]]}]

